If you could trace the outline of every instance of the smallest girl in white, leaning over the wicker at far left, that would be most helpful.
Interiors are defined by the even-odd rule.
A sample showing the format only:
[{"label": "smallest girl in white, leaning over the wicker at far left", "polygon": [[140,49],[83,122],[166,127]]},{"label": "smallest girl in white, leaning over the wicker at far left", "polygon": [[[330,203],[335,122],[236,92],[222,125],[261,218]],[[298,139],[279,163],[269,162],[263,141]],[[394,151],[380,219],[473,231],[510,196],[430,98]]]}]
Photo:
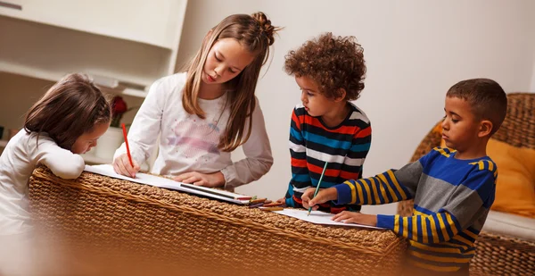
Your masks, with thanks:
[{"label": "smallest girl in white, leaning over the wicker at far left", "polygon": [[37,164],[62,179],[78,178],[85,167],[80,154],[96,146],[110,121],[109,102],[81,74],[54,84],[29,109],[24,128],[0,157],[0,274],[34,275],[31,271],[37,269],[30,255],[36,251],[37,233],[28,206],[28,181]]}]

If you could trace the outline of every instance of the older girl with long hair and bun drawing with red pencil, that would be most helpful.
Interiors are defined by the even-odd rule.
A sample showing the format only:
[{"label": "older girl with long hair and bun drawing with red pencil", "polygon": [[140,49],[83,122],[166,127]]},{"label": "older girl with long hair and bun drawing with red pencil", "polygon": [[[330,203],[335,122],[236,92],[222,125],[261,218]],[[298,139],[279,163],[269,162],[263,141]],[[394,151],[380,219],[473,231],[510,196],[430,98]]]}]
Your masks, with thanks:
[{"label": "older girl with long hair and bun drawing with red pencil", "polygon": [[[151,172],[177,181],[232,189],[266,174],[273,157],[254,92],[277,30],[264,13],[230,15],[210,29],[185,72],[152,85],[128,133],[134,166],[123,144],[115,171],[135,177],[159,146]],[[246,158],[233,163],[238,146]]]}]

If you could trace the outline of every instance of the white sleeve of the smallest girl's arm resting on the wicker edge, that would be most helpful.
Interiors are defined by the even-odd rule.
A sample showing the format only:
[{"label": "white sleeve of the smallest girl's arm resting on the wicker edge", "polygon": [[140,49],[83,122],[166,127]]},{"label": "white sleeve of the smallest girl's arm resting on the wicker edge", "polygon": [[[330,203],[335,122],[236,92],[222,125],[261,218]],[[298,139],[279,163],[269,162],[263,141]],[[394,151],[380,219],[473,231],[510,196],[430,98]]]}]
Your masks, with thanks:
[{"label": "white sleeve of the smallest girl's arm resting on the wicker edge", "polygon": [[39,136],[38,146],[33,150],[31,159],[35,160],[36,164],[45,164],[53,174],[65,180],[78,178],[86,166],[82,156],[63,149],[45,135]]}]

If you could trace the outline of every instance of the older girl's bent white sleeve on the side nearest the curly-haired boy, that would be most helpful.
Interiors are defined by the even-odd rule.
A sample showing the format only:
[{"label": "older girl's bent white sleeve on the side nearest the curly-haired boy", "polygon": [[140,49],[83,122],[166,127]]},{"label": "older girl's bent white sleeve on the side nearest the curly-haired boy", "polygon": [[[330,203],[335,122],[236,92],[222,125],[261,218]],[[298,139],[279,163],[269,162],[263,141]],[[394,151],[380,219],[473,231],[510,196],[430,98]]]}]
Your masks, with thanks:
[{"label": "older girl's bent white sleeve on the side nearest the curly-haired boy", "polygon": [[[221,170],[225,176],[225,188],[235,188],[259,180],[260,177],[268,173],[273,164],[264,115],[258,99],[251,119],[251,137],[243,144],[243,153],[246,158]],[[247,129],[248,125],[246,125],[246,131]]]}]

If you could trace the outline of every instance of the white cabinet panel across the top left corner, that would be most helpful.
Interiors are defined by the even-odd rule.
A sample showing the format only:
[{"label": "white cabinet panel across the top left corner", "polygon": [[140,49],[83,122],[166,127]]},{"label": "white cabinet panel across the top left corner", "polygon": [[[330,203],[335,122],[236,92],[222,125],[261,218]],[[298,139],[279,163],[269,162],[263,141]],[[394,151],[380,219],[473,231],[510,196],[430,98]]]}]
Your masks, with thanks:
[{"label": "white cabinet panel across the top left corner", "polygon": [[[173,49],[187,0],[8,0],[0,14],[26,21]],[[98,20],[95,20],[98,19]]]}]

